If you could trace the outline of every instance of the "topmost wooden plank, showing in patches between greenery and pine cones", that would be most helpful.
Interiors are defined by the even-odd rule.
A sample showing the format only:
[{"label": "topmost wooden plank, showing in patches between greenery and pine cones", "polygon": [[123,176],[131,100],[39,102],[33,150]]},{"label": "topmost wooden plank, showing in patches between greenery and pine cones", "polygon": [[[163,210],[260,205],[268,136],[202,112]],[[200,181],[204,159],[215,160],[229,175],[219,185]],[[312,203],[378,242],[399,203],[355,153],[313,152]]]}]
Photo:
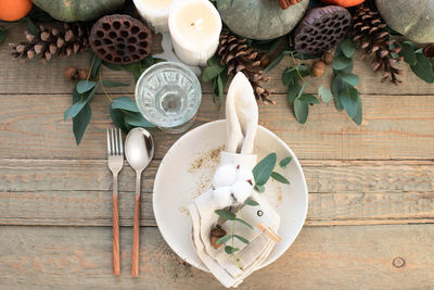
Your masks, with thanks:
[{"label": "topmost wooden plank, showing in patches between greenery and pine cones", "polygon": [[[24,40],[23,35],[24,26],[17,26],[10,30],[4,43],[20,42]],[[154,40],[154,52],[159,52],[159,40],[157,36]],[[285,47],[282,43],[281,49]],[[71,93],[73,84],[63,77],[64,70],[67,66],[75,65],[80,68],[89,66],[89,53],[82,53],[69,59],[52,60],[47,65],[41,65],[40,62],[28,62],[21,65],[10,56],[10,49],[7,45],[0,46],[0,59],[3,61],[0,67],[0,92],[1,93]],[[361,54],[356,53],[354,56],[355,73],[360,76],[360,85],[358,88],[363,94],[433,94],[434,85],[426,84],[414,76],[410,72],[408,65],[403,63],[400,68],[406,71],[400,79],[405,81],[404,85],[396,87],[391,84],[382,84],[380,81],[381,74],[374,74],[369,61],[361,60]],[[271,80],[266,87],[276,89],[277,93],[285,93],[286,88],[281,83],[281,73],[289,63],[289,58],[285,58],[280,65],[272,70],[268,75]],[[25,70],[23,70],[25,68]],[[113,72],[104,70],[104,77],[107,79],[131,83],[128,88],[113,88],[113,92],[117,93],[133,93],[133,79],[127,72]],[[332,68],[329,67],[327,73],[321,77],[314,79],[311,86],[307,87],[308,92],[316,92],[316,89],[330,84],[332,77]],[[212,92],[209,84],[202,84],[205,92]]]}]

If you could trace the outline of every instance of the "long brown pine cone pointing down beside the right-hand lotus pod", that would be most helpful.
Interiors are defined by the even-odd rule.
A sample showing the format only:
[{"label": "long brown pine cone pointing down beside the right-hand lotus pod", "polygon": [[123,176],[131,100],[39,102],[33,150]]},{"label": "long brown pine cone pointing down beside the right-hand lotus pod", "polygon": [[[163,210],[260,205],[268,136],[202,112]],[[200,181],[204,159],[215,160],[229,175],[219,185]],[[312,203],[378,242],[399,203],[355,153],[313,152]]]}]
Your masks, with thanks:
[{"label": "long brown pine cone pointing down beside the right-hand lotus pod", "polygon": [[403,58],[393,55],[397,54],[400,48],[393,47],[395,40],[391,39],[386,26],[378,11],[360,5],[353,16],[353,39],[360,45],[366,55],[372,55],[373,71],[383,70],[381,81],[388,79],[399,85],[401,81],[397,75],[403,74],[403,71],[396,68],[394,64]]}]

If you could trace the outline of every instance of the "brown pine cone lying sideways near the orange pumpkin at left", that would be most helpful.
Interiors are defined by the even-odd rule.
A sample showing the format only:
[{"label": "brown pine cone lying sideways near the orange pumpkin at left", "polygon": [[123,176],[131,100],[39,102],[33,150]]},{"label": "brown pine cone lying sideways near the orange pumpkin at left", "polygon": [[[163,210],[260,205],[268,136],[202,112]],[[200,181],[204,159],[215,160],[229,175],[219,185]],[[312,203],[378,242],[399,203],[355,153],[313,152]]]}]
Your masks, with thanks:
[{"label": "brown pine cone lying sideways near the orange pumpkin at left", "polygon": [[80,24],[64,23],[63,26],[39,26],[37,34],[25,31],[27,42],[10,43],[12,56],[21,62],[40,56],[42,62],[51,60],[53,55],[69,56],[85,51],[89,47],[89,29]]}]

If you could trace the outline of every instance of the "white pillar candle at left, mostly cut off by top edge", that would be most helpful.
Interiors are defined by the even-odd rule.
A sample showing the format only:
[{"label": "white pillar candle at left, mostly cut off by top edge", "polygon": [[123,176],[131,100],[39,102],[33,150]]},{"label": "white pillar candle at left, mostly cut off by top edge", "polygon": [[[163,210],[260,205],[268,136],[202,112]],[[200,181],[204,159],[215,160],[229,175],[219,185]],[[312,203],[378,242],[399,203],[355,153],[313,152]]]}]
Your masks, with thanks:
[{"label": "white pillar candle at left, mostly cut off by top edge", "polygon": [[133,0],[139,14],[155,33],[169,30],[170,7],[181,0]]}]

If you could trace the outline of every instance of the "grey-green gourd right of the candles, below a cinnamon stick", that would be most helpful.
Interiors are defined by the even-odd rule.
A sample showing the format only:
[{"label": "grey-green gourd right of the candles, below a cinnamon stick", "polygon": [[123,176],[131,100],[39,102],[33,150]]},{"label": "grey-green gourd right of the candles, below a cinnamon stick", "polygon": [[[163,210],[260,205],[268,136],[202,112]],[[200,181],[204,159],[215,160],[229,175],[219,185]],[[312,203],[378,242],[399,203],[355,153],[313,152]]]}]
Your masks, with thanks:
[{"label": "grey-green gourd right of the candles, below a cinnamon stick", "polygon": [[224,23],[235,34],[268,40],[290,33],[302,20],[309,4],[303,0],[282,10],[277,0],[218,0]]}]

